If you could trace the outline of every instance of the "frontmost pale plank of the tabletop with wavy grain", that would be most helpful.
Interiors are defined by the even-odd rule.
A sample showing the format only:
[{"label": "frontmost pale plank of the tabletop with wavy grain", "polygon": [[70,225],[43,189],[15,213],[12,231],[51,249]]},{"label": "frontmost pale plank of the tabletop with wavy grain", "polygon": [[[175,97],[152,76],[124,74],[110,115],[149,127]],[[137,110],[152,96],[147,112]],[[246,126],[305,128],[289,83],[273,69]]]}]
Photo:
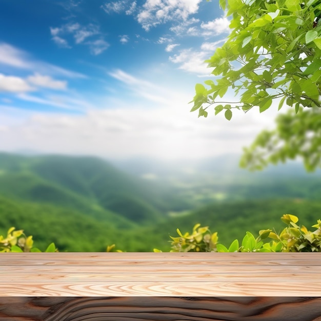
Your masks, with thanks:
[{"label": "frontmost pale plank of the tabletop with wavy grain", "polygon": [[305,296],[321,297],[321,283],[307,282],[65,282],[6,283],[0,296]]}]

